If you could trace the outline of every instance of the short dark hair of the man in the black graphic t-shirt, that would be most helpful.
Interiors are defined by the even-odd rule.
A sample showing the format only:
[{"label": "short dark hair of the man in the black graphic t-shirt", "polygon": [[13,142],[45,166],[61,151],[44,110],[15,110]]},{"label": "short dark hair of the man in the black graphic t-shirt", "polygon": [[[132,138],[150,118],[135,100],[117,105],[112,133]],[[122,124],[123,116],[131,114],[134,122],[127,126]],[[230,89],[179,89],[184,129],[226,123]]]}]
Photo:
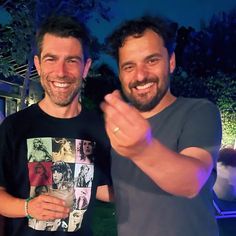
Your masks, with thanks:
[{"label": "short dark hair of the man in the black graphic t-shirt", "polygon": [[86,26],[72,16],[53,15],[46,19],[36,34],[37,53],[42,52],[43,38],[45,34],[52,34],[62,38],[74,37],[82,45],[84,59],[89,57],[90,35]]}]

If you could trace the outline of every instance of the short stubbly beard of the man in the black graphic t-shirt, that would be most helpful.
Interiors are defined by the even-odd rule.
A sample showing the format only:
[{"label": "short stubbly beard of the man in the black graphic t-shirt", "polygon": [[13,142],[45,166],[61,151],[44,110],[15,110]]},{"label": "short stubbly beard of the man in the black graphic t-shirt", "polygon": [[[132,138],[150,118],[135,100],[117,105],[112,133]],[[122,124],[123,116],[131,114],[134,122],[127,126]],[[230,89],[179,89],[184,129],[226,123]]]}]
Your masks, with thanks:
[{"label": "short stubbly beard of the man in the black graphic t-shirt", "polygon": [[63,77],[60,79],[57,79],[57,81],[63,82],[70,82],[73,83],[73,87],[70,88],[69,91],[67,92],[59,92],[55,91],[54,89],[51,88],[50,86],[50,78],[49,77],[44,77],[44,79],[41,79],[41,85],[44,89],[45,94],[51,99],[51,101],[58,105],[58,106],[68,106],[74,98],[80,94],[81,90],[81,82],[76,82],[74,81],[80,81],[79,79],[76,78],[69,78],[69,77]]}]

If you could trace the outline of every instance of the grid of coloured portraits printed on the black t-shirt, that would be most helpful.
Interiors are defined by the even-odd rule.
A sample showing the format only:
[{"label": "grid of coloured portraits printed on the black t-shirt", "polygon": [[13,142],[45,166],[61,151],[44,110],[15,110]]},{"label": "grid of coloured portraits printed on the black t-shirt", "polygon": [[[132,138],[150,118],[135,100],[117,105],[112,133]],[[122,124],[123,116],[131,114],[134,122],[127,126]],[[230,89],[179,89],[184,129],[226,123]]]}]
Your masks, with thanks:
[{"label": "grid of coloured portraits printed on the black t-shirt", "polygon": [[67,138],[27,139],[30,196],[43,193],[65,200],[71,208],[67,219],[29,220],[36,230],[77,231],[82,224],[94,178],[93,149],[89,140]]}]

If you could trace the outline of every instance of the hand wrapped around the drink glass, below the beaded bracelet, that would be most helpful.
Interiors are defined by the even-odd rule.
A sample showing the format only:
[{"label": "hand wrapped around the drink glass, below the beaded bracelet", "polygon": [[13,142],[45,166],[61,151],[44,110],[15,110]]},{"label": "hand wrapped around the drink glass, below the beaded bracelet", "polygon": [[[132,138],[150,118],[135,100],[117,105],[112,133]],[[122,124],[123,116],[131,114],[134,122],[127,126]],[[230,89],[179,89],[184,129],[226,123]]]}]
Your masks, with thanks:
[{"label": "hand wrapped around the drink glass, below the beaded bracelet", "polygon": [[28,203],[29,214],[37,220],[66,218],[69,211],[63,200],[49,195],[40,195]]}]

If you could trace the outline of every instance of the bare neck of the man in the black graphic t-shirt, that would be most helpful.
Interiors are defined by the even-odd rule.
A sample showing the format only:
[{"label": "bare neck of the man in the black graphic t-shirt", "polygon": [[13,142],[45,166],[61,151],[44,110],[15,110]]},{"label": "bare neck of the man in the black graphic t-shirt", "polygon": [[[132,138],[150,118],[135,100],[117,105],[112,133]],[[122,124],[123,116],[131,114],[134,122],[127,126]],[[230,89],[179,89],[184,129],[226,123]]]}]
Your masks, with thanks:
[{"label": "bare neck of the man in the black graphic t-shirt", "polygon": [[67,106],[56,105],[44,98],[39,102],[39,107],[48,115],[57,118],[73,118],[81,112],[81,104],[78,102],[78,97],[75,97]]}]

